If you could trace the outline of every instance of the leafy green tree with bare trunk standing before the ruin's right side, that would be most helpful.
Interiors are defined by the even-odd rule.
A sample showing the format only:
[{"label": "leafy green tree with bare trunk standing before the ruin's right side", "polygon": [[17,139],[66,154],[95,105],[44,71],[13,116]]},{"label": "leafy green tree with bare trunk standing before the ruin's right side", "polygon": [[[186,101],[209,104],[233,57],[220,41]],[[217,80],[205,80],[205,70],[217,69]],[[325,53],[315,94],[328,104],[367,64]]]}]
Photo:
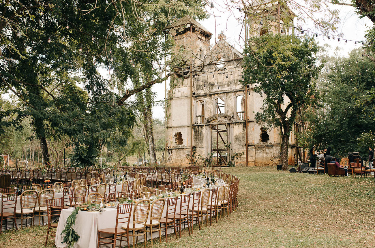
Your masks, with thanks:
[{"label": "leafy green tree with bare trunk standing before the ruin's right side", "polygon": [[317,43],[313,38],[267,34],[252,37],[245,48],[244,85],[264,97],[257,122],[278,127],[282,169],[288,169],[289,136],[300,108],[317,104]]}]

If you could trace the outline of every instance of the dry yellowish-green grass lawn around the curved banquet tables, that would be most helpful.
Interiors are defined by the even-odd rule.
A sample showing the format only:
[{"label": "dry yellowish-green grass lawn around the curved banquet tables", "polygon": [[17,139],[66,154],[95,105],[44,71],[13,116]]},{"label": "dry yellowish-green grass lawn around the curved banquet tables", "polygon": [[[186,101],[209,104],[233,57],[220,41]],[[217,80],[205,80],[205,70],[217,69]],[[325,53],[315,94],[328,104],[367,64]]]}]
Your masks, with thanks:
[{"label": "dry yellowish-green grass lawn around the curved banquet tables", "polygon": [[[211,227],[195,226],[193,235],[183,230],[181,239],[169,235],[167,244],[155,239],[154,247],[375,247],[374,179],[275,168],[225,171],[240,179],[239,208]],[[43,247],[44,239],[45,227],[7,231],[0,247]]]}]

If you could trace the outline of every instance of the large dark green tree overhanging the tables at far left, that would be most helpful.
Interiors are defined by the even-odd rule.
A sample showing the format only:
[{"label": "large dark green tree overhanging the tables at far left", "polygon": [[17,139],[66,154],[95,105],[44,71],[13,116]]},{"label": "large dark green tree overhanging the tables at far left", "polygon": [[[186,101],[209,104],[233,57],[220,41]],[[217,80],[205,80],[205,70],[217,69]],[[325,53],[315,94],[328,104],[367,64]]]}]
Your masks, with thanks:
[{"label": "large dark green tree overhanging the tables at far left", "polygon": [[[151,71],[154,62],[164,57],[170,42],[164,42],[163,27],[186,14],[205,16],[202,2],[198,0],[162,4],[158,0],[110,3],[103,0],[47,3],[7,0],[0,3],[0,10],[0,89],[11,91],[22,102],[19,109],[1,113],[1,116],[16,113],[15,125],[26,116],[30,117],[46,164],[49,164],[47,139],[63,134],[80,137],[73,141],[76,142],[75,154],[83,156],[83,163],[93,161],[93,157],[84,154],[94,156],[97,153],[94,151],[97,145],[87,143],[98,142],[88,139],[88,134],[95,129],[88,123],[87,129],[83,124],[78,125],[83,126],[82,131],[87,134],[84,139],[81,130],[75,128],[77,123],[64,125],[63,117],[95,111],[93,107],[108,110],[106,106],[111,106],[113,99],[123,104],[124,101],[110,91],[117,86],[121,92],[135,66],[144,72]],[[100,67],[114,72],[110,80],[100,75]],[[151,82],[157,79],[154,72]],[[83,102],[69,103],[67,99],[79,100],[73,95],[77,91],[69,92],[76,83],[86,91],[87,97],[81,97]],[[134,94],[150,85],[146,83],[130,92]],[[112,99],[105,99],[106,94]],[[108,114],[105,119],[107,117],[113,116]],[[100,121],[97,118],[101,116],[87,118]],[[3,127],[0,132],[4,131]]]}]

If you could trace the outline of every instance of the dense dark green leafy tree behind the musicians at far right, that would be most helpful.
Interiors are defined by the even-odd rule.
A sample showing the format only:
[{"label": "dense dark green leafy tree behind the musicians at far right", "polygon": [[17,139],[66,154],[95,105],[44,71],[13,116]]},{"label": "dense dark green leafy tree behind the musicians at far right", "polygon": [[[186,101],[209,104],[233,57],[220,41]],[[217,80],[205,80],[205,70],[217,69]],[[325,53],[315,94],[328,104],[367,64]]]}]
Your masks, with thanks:
[{"label": "dense dark green leafy tree behind the musicians at far right", "polygon": [[[300,142],[308,147],[316,144],[317,149],[332,147],[334,156],[344,157],[348,152],[368,154],[374,124],[375,102],[374,63],[363,58],[362,49],[353,50],[348,58],[338,58],[323,72],[319,88],[321,108],[306,112],[309,121],[306,134]],[[364,94],[366,93],[366,94]]]}]

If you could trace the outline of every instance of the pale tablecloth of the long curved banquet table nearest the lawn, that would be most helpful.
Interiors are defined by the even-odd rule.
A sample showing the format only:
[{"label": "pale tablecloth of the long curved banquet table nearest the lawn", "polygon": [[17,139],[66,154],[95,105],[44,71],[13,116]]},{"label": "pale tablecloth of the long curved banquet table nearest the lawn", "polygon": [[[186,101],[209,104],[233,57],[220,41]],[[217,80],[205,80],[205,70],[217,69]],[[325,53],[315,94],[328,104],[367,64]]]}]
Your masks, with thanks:
[{"label": "pale tablecloth of the long curved banquet table nearest the lawn", "polygon": [[[223,185],[224,182],[221,179],[216,179],[218,182],[217,186]],[[193,182],[195,185],[202,185],[203,180],[201,178],[193,178]],[[214,188],[211,187],[211,188]],[[191,195],[192,197],[192,195]],[[165,199],[166,201],[167,199]],[[192,199],[190,200],[190,207],[192,207]],[[180,209],[180,197],[178,197],[177,200],[177,209]],[[65,221],[71,215],[71,213],[74,211],[74,208],[68,208],[63,209],[63,211],[60,214],[60,218],[58,220],[58,226],[56,230],[56,237],[55,237],[55,245],[57,248],[66,248],[66,244],[63,244],[63,238],[60,235],[62,230],[65,226]],[[105,208],[104,212],[85,212],[85,211],[79,211],[77,214],[77,219],[75,221],[74,230],[77,232],[77,234],[80,236],[77,243],[74,245],[75,248],[96,248],[98,246],[98,230],[99,229],[105,229],[113,227],[116,222],[116,214],[117,209],[116,208]],[[166,216],[166,202],[163,209],[162,218]],[[148,215],[148,219],[150,219],[150,214]],[[133,221],[133,213],[130,217],[130,222]],[[118,226],[118,228],[121,228],[121,225]],[[181,226],[183,228],[183,226]],[[168,234],[173,233],[173,229],[168,229]],[[163,235],[163,232],[162,232]],[[156,238],[159,236],[159,232],[153,233],[153,237]],[[150,238],[150,235],[148,233],[148,238]],[[138,242],[144,241],[143,236],[138,237]],[[132,244],[132,238],[129,239],[130,244]],[[126,242],[123,243],[126,245]],[[119,245],[119,242],[118,244]],[[121,244],[122,245],[122,244]]]}]

